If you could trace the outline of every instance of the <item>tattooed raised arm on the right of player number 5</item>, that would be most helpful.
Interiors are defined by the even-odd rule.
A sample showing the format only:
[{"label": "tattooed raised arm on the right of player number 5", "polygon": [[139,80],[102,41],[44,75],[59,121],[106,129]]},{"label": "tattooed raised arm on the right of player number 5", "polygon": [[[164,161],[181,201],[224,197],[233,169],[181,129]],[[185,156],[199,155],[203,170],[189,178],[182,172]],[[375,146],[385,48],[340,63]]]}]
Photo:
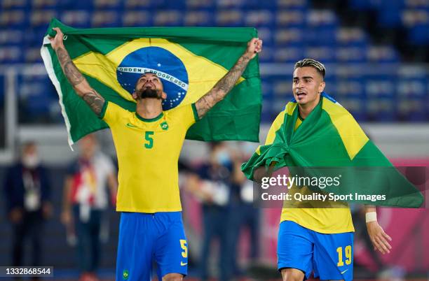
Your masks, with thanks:
[{"label": "tattooed raised arm on the right of player number 5", "polygon": [[247,49],[244,54],[238,59],[236,64],[219,80],[207,94],[201,96],[195,103],[198,112],[198,117],[203,117],[210,108],[216,103],[222,101],[226,94],[236,85],[236,82],[245,71],[247,64],[262,50],[262,41],[259,38],[252,38],[247,43]]}]

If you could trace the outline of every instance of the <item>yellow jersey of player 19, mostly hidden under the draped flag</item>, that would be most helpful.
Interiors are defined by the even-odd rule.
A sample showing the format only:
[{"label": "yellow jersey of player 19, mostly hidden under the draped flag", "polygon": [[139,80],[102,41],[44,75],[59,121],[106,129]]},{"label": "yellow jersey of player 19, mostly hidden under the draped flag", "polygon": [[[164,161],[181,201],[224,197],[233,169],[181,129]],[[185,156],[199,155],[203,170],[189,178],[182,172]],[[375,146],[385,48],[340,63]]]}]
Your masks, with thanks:
[{"label": "yellow jersey of player 19, mostly hidden under the draped flag", "polygon": [[[282,126],[283,120],[285,119],[285,111],[282,111],[271,124],[271,128],[268,131],[265,145],[273,143],[275,138],[275,132]],[[299,125],[305,122],[297,118],[294,129],[296,130]],[[299,192],[301,194],[313,193],[307,187],[296,187],[293,186],[289,194]],[[305,208],[306,207],[306,208]],[[308,208],[311,207],[311,208]],[[320,233],[343,233],[355,231],[353,222],[350,214],[350,208],[347,203],[324,201],[324,202],[298,202],[292,201],[283,204],[282,215],[280,222],[289,220],[296,222],[300,226],[306,229],[311,229]]]}]

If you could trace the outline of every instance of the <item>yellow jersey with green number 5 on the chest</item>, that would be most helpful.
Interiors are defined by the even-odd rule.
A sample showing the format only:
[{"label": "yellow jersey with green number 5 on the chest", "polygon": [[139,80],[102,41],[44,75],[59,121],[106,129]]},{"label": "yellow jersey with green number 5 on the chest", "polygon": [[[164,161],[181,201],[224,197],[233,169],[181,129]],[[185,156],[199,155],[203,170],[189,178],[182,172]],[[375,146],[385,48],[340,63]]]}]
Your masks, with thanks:
[{"label": "yellow jersey with green number 5 on the chest", "polygon": [[109,124],[118,157],[116,210],[182,210],[178,161],[186,131],[198,120],[195,104],[145,119],[106,101],[100,117]]}]

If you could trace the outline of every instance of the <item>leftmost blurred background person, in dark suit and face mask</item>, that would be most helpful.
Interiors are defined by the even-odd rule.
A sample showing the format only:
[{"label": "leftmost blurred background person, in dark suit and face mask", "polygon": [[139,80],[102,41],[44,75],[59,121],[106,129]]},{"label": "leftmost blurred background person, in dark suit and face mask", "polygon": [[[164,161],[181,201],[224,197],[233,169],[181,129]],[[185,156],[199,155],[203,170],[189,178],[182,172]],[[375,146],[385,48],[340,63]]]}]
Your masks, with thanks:
[{"label": "leftmost blurred background person, in dark suit and face mask", "polygon": [[[23,266],[25,239],[32,244],[31,266],[41,265],[43,221],[52,215],[50,183],[40,164],[36,143],[22,145],[20,161],[6,172],[8,219],[13,224],[13,266]],[[33,280],[37,280],[34,278]]]}]

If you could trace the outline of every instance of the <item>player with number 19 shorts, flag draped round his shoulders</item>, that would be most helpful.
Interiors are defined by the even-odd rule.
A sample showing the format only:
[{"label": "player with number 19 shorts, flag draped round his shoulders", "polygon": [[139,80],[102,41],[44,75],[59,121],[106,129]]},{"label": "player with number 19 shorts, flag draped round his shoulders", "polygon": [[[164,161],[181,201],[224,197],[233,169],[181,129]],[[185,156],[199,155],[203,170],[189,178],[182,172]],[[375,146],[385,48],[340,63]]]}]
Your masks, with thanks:
[{"label": "player with number 19 shorts, flag draped round his shoulders", "polygon": [[[294,130],[320,102],[325,89],[325,66],[314,59],[303,59],[295,64],[292,92],[299,108],[299,118]],[[275,131],[283,121],[283,115],[271,125],[266,145],[275,138]],[[272,170],[270,168],[269,170]],[[272,171],[268,171],[268,176]],[[254,172],[254,180],[267,176],[264,167]],[[292,187],[290,193],[311,193],[307,187]],[[291,205],[288,205],[291,204]],[[293,206],[292,206],[293,205]],[[333,206],[336,205],[336,206]],[[346,203],[313,202],[285,203],[278,232],[278,270],[284,281],[302,281],[314,272],[320,280],[353,279],[353,222]],[[376,221],[374,206],[365,206],[367,231],[375,250],[389,252],[391,240]]]}]

